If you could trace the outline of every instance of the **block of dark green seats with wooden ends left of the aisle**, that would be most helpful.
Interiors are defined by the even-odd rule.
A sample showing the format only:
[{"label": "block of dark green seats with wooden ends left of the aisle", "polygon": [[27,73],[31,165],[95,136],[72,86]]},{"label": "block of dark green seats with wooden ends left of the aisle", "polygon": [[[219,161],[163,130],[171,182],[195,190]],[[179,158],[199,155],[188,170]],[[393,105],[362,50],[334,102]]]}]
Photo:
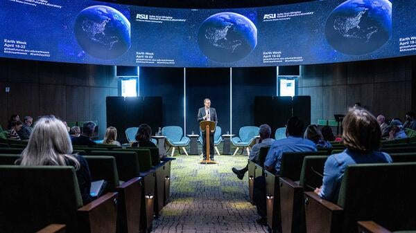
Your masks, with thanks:
[{"label": "block of dark green seats with wooden ends left of the aisle", "polygon": [[159,160],[155,148],[74,147],[92,180],[107,181],[105,195],[85,206],[73,167],[16,166],[21,151],[0,148],[0,182],[8,187],[0,192],[0,232],[35,232],[51,223],[67,225],[67,232],[149,232],[153,214],[168,202],[173,158]]}]

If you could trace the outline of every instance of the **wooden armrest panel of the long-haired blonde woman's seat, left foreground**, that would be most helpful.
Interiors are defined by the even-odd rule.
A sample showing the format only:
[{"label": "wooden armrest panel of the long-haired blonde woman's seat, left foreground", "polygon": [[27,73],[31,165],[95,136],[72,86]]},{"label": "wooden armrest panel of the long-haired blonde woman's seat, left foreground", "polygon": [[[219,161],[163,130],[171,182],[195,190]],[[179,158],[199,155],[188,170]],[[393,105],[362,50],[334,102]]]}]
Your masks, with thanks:
[{"label": "wooden armrest panel of the long-haired blonde woman's seat, left foreground", "polygon": [[116,232],[117,220],[116,192],[107,193],[78,209],[80,232]]}]

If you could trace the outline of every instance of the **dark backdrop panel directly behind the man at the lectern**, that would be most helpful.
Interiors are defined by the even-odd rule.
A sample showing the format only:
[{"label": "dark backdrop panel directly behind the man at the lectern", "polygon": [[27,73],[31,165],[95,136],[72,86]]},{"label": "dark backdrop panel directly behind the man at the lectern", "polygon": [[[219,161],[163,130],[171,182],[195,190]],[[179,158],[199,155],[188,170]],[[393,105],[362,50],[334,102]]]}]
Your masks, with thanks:
[{"label": "dark backdrop panel directly behind the man at the lectern", "polygon": [[229,68],[187,68],[187,133],[199,134],[198,109],[205,98],[216,109],[218,126],[229,131]]}]

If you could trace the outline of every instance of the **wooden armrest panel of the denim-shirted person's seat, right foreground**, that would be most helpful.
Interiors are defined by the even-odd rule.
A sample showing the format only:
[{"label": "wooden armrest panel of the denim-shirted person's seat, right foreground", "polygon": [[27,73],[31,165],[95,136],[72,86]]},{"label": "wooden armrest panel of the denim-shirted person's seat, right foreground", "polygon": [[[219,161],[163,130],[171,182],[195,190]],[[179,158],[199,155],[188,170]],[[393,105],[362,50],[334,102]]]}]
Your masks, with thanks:
[{"label": "wooden armrest panel of the denim-shirted person's seat, right foreground", "polygon": [[343,208],[326,201],[314,192],[304,192],[308,233],[342,232]]}]

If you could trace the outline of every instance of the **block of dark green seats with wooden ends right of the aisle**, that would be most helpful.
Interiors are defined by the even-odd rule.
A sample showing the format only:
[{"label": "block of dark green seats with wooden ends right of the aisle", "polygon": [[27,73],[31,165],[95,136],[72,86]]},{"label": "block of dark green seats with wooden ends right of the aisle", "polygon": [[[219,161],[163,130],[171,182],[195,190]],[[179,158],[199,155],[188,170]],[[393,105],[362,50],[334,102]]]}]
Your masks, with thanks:
[{"label": "block of dark green seats with wooden ends right of the aisle", "polygon": [[[338,153],[342,145],[335,146],[338,148],[333,152]],[[249,160],[250,198],[254,178],[265,176],[268,227],[272,232],[354,233],[358,232],[357,221],[375,221],[390,230],[416,229],[416,145],[382,149],[386,150],[393,164],[347,168],[337,203],[313,192],[322,185],[330,150],[283,153],[279,176]],[[268,147],[262,148],[260,158],[264,160],[267,152]],[[361,223],[359,232],[372,232],[379,227],[376,223]]]}]

